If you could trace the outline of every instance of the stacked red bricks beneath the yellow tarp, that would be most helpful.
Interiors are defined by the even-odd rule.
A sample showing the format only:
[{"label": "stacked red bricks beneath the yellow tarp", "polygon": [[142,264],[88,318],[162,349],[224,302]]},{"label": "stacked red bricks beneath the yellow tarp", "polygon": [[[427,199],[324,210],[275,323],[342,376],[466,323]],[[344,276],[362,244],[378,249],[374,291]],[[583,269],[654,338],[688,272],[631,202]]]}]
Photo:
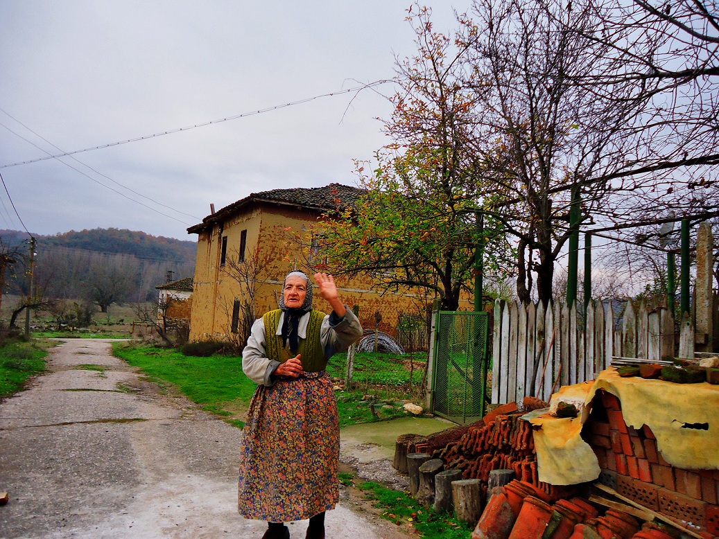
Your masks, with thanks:
[{"label": "stacked red bricks beneath the yellow tarp", "polygon": [[662,459],[646,425],[637,430],[624,422],[617,397],[597,392],[582,437],[597,455],[604,484],[683,525],[719,535],[719,471],[679,469]]}]

